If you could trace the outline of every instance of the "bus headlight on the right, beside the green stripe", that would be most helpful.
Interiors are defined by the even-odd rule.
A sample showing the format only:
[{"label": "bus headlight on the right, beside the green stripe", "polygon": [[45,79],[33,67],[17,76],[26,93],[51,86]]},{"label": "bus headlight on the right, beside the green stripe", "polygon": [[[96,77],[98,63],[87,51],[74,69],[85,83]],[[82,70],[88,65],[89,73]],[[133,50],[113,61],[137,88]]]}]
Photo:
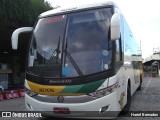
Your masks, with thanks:
[{"label": "bus headlight on the right, beside the green stripe", "polygon": [[116,90],[117,86],[118,86],[118,82],[116,82],[114,85],[109,86],[107,88],[97,90],[96,92],[93,92],[93,93],[89,93],[89,96],[96,97],[96,98],[103,97],[105,95],[108,95],[108,94],[111,94],[112,92],[114,92]]}]

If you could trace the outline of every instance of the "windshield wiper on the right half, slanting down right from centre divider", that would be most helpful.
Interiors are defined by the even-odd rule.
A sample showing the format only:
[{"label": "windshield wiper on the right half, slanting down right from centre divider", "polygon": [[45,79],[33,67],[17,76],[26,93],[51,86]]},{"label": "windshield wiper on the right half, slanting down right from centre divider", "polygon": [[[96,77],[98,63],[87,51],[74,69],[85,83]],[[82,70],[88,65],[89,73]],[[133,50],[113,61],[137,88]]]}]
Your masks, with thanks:
[{"label": "windshield wiper on the right half, slanting down right from centre divider", "polygon": [[78,67],[78,65],[76,64],[76,62],[74,61],[74,59],[72,58],[72,56],[70,55],[70,53],[67,50],[67,39],[66,39],[66,45],[65,45],[65,60],[64,60],[64,64],[66,62],[66,56],[68,57],[68,59],[70,60],[70,62],[72,63],[73,67],[75,68],[75,70],[77,71],[77,73],[79,74],[79,76],[81,76],[81,78],[83,79],[83,73],[80,70],[80,68]]}]

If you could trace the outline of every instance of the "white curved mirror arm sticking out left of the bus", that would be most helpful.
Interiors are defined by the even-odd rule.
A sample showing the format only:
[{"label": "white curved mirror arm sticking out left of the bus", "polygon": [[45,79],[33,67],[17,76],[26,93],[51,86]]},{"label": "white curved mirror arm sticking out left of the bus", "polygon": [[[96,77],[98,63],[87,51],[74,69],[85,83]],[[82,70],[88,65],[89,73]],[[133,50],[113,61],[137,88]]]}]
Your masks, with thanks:
[{"label": "white curved mirror arm sticking out left of the bus", "polygon": [[28,33],[28,32],[31,32],[32,30],[33,30],[33,27],[22,27],[22,28],[16,29],[12,33],[12,37],[11,37],[12,49],[17,50],[17,48],[18,48],[18,36],[19,36],[19,34]]}]

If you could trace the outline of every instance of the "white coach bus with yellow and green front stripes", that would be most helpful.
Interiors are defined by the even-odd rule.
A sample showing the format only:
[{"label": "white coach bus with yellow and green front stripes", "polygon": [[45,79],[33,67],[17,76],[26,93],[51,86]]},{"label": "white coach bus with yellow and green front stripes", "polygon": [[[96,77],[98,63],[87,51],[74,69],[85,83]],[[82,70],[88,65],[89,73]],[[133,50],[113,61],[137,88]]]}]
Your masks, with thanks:
[{"label": "white coach bus with yellow and green front stripes", "polygon": [[[142,84],[141,54],[122,13],[113,2],[57,8],[42,13],[20,33],[29,42],[25,104],[58,117],[116,117],[127,113]],[[142,65],[142,64],[141,64]]]}]

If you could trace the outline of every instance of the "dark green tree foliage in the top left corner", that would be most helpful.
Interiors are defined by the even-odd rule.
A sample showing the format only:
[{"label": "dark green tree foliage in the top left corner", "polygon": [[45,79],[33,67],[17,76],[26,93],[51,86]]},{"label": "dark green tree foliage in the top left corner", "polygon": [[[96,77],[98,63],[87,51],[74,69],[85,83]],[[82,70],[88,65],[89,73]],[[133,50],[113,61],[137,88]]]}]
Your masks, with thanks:
[{"label": "dark green tree foliage in the top left corner", "polygon": [[42,12],[52,9],[44,0],[0,0],[0,21],[33,25]]}]

